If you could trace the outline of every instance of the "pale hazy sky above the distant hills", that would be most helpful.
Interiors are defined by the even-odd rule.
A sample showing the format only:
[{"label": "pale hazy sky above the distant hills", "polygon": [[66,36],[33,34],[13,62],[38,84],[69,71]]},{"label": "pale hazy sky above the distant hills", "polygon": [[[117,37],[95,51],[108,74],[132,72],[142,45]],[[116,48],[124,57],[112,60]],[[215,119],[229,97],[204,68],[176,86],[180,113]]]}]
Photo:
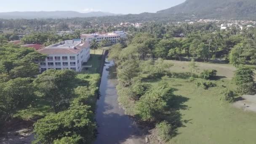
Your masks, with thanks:
[{"label": "pale hazy sky above the distant hills", "polygon": [[185,0],[0,0],[0,12],[104,11],[110,13],[156,12]]}]

